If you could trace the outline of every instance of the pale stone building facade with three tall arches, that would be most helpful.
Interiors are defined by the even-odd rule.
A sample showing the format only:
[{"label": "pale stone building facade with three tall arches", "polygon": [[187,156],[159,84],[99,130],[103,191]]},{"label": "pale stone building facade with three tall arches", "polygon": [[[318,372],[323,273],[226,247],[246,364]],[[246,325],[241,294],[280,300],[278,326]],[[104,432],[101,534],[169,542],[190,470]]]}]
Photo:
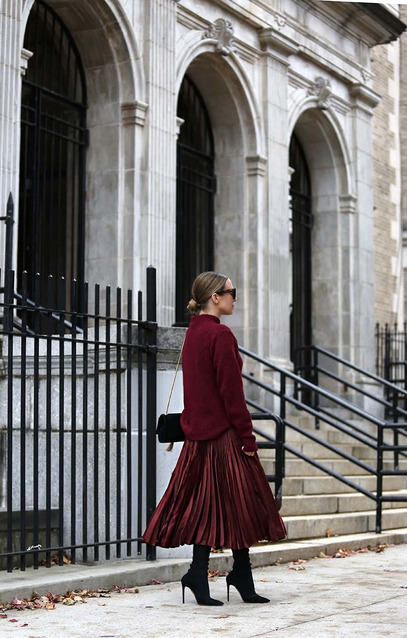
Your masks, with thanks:
[{"label": "pale stone building facade with three tall arches", "polygon": [[[27,31],[33,11],[33,24],[48,33],[41,61],[38,48],[27,48],[39,41],[38,29]],[[57,184],[55,175],[50,183],[44,177],[41,200],[40,186],[29,191],[29,174],[21,181],[20,147],[29,139],[22,125],[29,130],[35,111],[27,91],[75,113],[84,107],[84,130],[72,124],[83,133],[84,173],[66,195],[72,210],[78,198],[80,241],[64,217],[71,251],[82,246],[72,272],[77,267],[91,283],[137,290],[153,263],[158,322],[172,325],[177,317],[182,323],[197,271],[214,267],[239,290],[230,325],[242,345],[290,366],[293,344],[311,339],[373,369],[375,276],[376,295],[387,295],[392,313],[402,312],[394,301],[399,262],[382,265],[376,258],[376,273],[374,267],[375,233],[376,244],[383,237],[391,246],[399,241],[398,165],[386,168],[390,204],[380,220],[373,213],[374,204],[388,202],[380,179],[373,180],[374,169],[382,170],[380,152],[375,160],[373,154],[385,146],[397,154],[396,110],[390,133],[380,137],[372,126],[385,75],[398,73],[397,45],[388,45],[386,59],[374,53],[371,65],[371,49],[404,29],[396,13],[381,4],[293,0],[3,0],[0,205],[11,191],[20,238],[19,197],[27,210],[33,200],[36,214],[45,211],[47,218],[47,193],[52,180]],[[58,45],[55,33],[64,33],[68,44]],[[50,60],[66,57],[67,47],[66,77],[75,59],[82,103],[61,88],[58,93],[48,77],[56,73]],[[389,94],[383,112],[396,109],[392,100]],[[39,121],[51,122],[51,110],[41,111]],[[182,113],[195,117],[193,126]],[[58,117],[63,126],[64,111]],[[54,135],[49,126],[47,135]],[[63,166],[72,180],[74,169]],[[44,246],[53,242],[54,235],[47,240],[57,223],[52,214],[41,222]],[[1,233],[3,251],[3,227]],[[24,241],[14,245],[17,270]],[[35,249],[41,252],[31,247],[33,255]],[[189,261],[181,263],[182,255]]]}]

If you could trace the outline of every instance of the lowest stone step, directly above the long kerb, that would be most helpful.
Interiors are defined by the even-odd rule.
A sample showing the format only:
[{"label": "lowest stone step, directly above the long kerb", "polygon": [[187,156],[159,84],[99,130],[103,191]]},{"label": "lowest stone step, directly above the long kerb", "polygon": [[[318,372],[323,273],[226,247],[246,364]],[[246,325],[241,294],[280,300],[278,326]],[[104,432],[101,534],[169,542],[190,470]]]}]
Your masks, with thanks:
[{"label": "lowest stone step, directly above the long kerb", "polygon": [[[287,540],[296,538],[330,537],[343,534],[359,534],[374,531],[376,510],[341,514],[315,514],[306,516],[285,516]],[[383,530],[395,530],[407,526],[407,507],[383,510],[381,516]]]}]

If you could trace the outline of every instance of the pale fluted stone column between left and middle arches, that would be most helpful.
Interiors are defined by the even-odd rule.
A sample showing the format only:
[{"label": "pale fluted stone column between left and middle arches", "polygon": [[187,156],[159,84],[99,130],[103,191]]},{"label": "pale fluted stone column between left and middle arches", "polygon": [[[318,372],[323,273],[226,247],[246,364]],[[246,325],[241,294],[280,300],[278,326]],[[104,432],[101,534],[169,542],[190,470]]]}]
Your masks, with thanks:
[{"label": "pale fluted stone column between left and middle arches", "polygon": [[142,271],[157,268],[157,320],[175,320],[175,186],[177,96],[175,94],[175,0],[147,3],[145,73],[147,78],[148,159],[142,204]]}]

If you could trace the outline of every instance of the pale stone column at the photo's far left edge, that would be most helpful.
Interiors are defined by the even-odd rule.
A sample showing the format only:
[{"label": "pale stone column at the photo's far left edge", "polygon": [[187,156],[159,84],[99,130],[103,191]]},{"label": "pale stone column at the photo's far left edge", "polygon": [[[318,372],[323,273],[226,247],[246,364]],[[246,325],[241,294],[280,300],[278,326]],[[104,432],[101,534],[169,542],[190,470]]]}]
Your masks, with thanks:
[{"label": "pale stone column at the photo's far left edge", "polygon": [[[18,179],[20,161],[20,103],[21,75],[27,68],[31,54],[21,51],[21,0],[0,3],[0,216],[6,214],[11,191],[14,200],[14,219],[18,220]],[[17,265],[17,224],[14,226],[13,267]],[[0,268],[4,268],[4,222],[0,222]],[[2,274],[3,281],[3,274]]]}]

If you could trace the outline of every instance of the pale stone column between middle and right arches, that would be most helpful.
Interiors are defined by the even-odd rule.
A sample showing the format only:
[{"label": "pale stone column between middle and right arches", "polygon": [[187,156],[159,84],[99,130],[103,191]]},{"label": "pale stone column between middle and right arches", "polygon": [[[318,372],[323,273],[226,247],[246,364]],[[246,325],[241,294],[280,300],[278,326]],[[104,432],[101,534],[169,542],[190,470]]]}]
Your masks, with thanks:
[{"label": "pale stone column between middle and right arches", "polygon": [[264,272],[268,299],[263,322],[265,357],[279,364],[290,359],[290,246],[288,214],[288,57],[298,51],[291,38],[276,29],[260,33],[263,55],[263,115],[268,161],[268,228]]}]

